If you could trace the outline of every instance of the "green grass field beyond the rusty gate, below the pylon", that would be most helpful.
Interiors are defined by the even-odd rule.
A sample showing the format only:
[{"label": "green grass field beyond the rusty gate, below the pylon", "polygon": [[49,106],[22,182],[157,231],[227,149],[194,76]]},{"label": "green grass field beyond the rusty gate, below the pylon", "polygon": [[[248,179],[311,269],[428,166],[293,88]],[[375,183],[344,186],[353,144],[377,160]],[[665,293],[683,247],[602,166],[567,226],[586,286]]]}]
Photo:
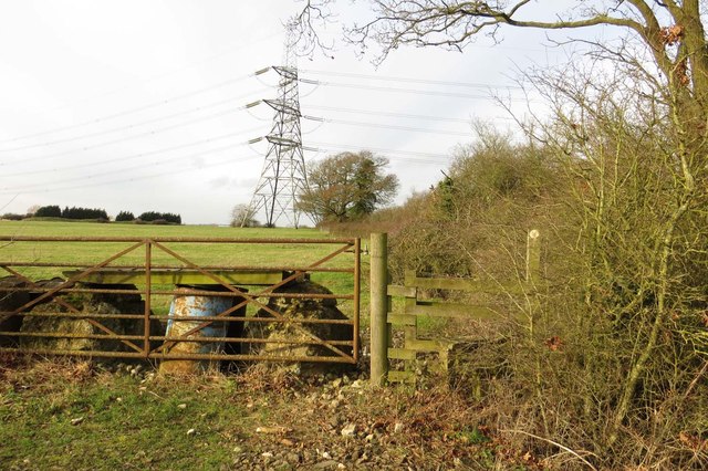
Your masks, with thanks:
[{"label": "green grass field beyond the rusty gate, below the pylon", "polygon": [[[331,239],[327,233],[316,229],[263,229],[263,228],[228,228],[216,226],[152,226],[128,223],[95,223],[95,222],[59,222],[59,221],[0,221],[0,236],[18,237],[64,237],[64,238],[190,238],[190,239],[283,239],[308,240]],[[129,248],[132,242],[34,242],[34,241],[3,241],[0,243],[0,262],[31,262],[31,263],[75,263],[92,265]],[[168,242],[164,244],[186,260],[198,265],[223,266],[259,266],[259,268],[305,268],[326,257],[342,247],[342,244],[310,244],[310,243],[185,243]],[[153,248],[153,264],[179,266],[183,262],[173,255]],[[145,249],[138,248],[117,259],[113,264],[144,265]],[[342,253],[322,268],[354,266],[354,254]],[[55,276],[66,278],[65,268],[29,266],[17,269],[32,280],[46,280]],[[362,257],[361,280],[366,283],[368,260]],[[0,276],[9,273],[2,273]],[[351,273],[314,272],[312,280],[323,284],[335,294],[352,294],[354,279]],[[154,286],[157,289],[165,286]],[[249,286],[246,286],[249,287]],[[368,296],[367,286],[362,286],[363,302]],[[154,311],[164,313],[169,304],[168,297],[154,300]],[[364,307],[364,304],[362,304]],[[353,314],[350,301],[343,301],[341,311]],[[362,310],[362,312],[364,312]]]}]

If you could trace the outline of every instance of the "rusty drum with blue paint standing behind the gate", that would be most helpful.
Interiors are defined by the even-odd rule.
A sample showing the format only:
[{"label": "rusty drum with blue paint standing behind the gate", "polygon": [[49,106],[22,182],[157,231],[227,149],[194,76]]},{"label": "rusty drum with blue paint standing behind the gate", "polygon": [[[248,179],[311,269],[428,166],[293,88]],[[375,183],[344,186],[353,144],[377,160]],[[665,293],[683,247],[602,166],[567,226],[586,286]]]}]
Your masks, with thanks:
[{"label": "rusty drum with blue paint standing behind the gate", "polygon": [[[169,305],[170,317],[208,317],[216,316],[233,306],[232,297],[205,296],[187,294],[194,289],[178,287],[176,291],[186,294],[176,294]],[[198,327],[202,322],[196,318],[185,321],[170,318],[167,322],[166,336],[179,337]],[[189,334],[189,338],[227,336],[228,323],[211,322],[208,326]],[[167,354],[220,354],[223,352],[223,342],[176,342],[165,349]],[[210,368],[218,368],[218,362],[165,359],[159,366],[160,373],[198,374]]]}]

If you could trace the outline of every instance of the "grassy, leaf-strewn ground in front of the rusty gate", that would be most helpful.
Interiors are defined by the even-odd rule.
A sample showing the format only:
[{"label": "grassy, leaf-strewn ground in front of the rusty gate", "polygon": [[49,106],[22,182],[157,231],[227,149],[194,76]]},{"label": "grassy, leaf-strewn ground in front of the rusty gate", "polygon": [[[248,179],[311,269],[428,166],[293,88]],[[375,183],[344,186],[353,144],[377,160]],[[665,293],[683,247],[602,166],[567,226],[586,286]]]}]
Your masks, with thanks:
[{"label": "grassy, leaf-strewn ground in front of the rusty gate", "polygon": [[[337,394],[344,399],[332,408]],[[336,427],[330,425],[334,416]],[[404,432],[395,432],[398,422]],[[269,468],[261,458],[266,451],[303,453],[296,469],[313,469],[325,450],[353,469],[345,449],[354,448],[387,457],[386,469],[405,469],[397,463],[406,457],[416,469],[457,468],[457,457],[485,463],[471,469],[500,469],[497,444],[450,390],[337,389],[260,368],[228,377],[143,380],[86,362],[4,356],[0,423],[3,470],[252,468],[235,463],[240,456],[252,457],[261,469],[294,469]],[[357,436],[343,438],[343,423],[356,423]],[[259,433],[259,427],[285,431]],[[369,432],[378,437],[374,443],[365,439]]]}]

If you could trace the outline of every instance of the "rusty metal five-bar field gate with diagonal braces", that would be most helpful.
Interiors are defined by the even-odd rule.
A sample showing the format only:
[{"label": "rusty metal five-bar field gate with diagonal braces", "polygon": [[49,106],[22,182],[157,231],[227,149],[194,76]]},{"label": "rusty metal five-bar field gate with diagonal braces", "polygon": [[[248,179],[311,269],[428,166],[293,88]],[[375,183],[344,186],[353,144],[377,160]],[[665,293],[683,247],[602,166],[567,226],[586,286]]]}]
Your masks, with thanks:
[{"label": "rusty metal five-bar field gate with diagonal braces", "polygon": [[[0,268],[8,275],[0,279],[0,352],[160,360],[358,359],[358,239],[0,241]],[[264,257],[296,261],[248,263]],[[54,278],[39,280],[48,276]],[[289,289],[299,283],[319,287]],[[190,296],[208,301],[212,311],[177,312],[176,301]],[[300,310],[306,305],[336,305],[334,312],[344,305],[347,315],[310,316]],[[194,348],[180,348],[185,345]]]}]

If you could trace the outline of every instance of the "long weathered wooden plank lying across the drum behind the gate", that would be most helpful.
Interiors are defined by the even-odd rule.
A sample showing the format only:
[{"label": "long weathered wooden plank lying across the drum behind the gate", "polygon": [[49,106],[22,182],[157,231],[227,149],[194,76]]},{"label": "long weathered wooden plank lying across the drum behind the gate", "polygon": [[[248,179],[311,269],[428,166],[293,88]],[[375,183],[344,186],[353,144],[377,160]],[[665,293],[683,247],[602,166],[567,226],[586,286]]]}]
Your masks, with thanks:
[{"label": "long weathered wooden plank lying across the drum behind the gate", "polygon": [[[66,271],[64,275],[74,276],[79,271]],[[225,284],[235,285],[271,285],[283,279],[284,272],[279,270],[253,271],[210,271]],[[85,283],[97,284],[143,284],[145,270],[98,270],[81,279]],[[150,270],[152,284],[218,284],[214,279],[194,270]]]}]

